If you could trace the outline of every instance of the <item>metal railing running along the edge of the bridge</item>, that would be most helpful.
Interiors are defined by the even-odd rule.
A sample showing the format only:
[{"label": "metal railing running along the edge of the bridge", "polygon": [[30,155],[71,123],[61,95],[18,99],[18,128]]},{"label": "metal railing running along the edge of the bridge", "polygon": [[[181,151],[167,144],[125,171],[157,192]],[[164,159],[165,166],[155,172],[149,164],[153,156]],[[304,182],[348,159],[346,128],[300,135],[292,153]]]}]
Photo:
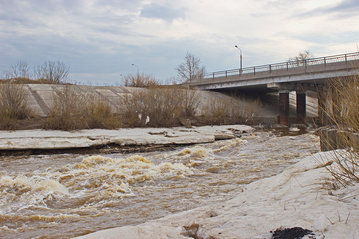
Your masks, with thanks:
[{"label": "metal railing running along the edge of the bridge", "polygon": [[305,69],[312,68],[316,65],[319,66],[329,66],[331,63],[336,62],[345,62],[358,60],[359,52],[337,55],[337,56],[328,56],[328,57],[320,57],[313,59],[306,59],[301,61],[293,61],[293,62],[283,62],[277,64],[269,64],[264,66],[255,66],[255,67],[247,67],[242,69],[235,69],[229,71],[218,71],[205,73],[201,75],[195,75],[190,77],[190,82],[199,82],[199,81],[208,81],[210,79],[221,79],[221,78],[231,78],[237,76],[246,76],[246,75],[257,75],[262,73],[271,73],[277,71],[289,71],[289,70],[297,70],[297,69]]}]

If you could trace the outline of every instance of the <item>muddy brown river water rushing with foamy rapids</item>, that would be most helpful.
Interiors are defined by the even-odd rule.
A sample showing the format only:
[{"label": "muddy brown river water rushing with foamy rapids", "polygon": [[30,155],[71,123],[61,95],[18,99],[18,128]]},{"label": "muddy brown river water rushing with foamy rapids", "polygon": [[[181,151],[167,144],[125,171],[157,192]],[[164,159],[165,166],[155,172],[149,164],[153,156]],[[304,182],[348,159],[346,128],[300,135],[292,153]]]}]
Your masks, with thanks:
[{"label": "muddy brown river water rushing with foamy rapids", "polygon": [[170,152],[0,157],[0,238],[67,239],[227,201],[318,144],[277,129]]}]

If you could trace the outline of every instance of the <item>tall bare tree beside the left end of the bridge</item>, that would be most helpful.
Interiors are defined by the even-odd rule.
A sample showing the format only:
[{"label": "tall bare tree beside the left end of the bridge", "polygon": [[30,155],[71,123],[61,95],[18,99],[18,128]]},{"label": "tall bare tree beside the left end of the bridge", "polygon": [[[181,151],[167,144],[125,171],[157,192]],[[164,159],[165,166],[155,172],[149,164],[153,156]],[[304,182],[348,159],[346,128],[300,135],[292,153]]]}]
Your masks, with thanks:
[{"label": "tall bare tree beside the left end of the bridge", "polygon": [[190,81],[191,76],[207,72],[206,67],[201,64],[201,58],[196,56],[194,53],[186,52],[183,60],[185,61],[175,68],[177,75],[182,79],[182,82]]}]

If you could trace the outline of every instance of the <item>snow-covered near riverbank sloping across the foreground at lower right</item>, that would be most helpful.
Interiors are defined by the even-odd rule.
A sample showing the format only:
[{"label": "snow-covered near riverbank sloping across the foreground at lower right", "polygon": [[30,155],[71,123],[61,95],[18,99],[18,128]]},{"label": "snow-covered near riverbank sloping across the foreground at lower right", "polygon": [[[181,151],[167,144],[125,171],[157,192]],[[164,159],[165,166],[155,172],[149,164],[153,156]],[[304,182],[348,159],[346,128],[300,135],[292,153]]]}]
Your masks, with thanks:
[{"label": "snow-covered near riverbank sloping across the foreground at lower right", "polygon": [[76,239],[279,239],[291,237],[275,237],[276,229],[293,227],[313,231],[303,237],[307,239],[359,238],[359,184],[318,189],[320,179],[329,177],[318,162],[331,164],[330,152],[313,154],[278,175],[252,182],[232,200]]}]

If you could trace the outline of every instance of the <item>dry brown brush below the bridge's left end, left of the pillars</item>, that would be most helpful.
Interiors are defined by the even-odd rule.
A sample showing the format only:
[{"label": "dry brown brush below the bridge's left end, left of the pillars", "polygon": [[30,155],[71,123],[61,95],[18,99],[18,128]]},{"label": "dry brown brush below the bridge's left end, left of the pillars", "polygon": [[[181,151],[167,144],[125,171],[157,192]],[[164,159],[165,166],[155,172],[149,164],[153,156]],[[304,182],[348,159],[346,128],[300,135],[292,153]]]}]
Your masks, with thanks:
[{"label": "dry brown brush below the bridge's left end, left of the pillars", "polygon": [[202,116],[213,124],[256,125],[261,123],[265,109],[260,99],[231,96],[209,100],[202,109]]}]

